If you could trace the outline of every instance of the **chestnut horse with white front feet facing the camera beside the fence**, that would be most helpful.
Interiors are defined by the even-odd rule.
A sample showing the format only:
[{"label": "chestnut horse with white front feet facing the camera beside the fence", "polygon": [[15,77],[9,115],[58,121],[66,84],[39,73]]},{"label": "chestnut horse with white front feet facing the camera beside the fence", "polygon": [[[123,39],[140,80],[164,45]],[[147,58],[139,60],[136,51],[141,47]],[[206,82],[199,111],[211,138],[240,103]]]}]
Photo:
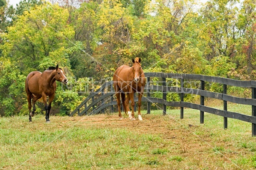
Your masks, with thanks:
[{"label": "chestnut horse with white front feet facing the camera beside the fence", "polygon": [[[134,93],[138,92],[138,118],[142,120],[140,115],[140,106],[141,106],[141,98],[143,96],[144,86],[145,86],[145,75],[140,65],[141,59],[136,57],[135,60],[132,59],[134,63],[132,67],[128,65],[122,65],[116,69],[114,76],[113,76],[113,86],[116,92],[116,100],[117,106],[119,111],[119,119],[122,119],[122,114],[120,110],[120,94],[122,98],[122,104],[125,110],[125,114],[127,115],[126,111],[128,111],[129,118],[131,120],[135,120],[134,118]],[[127,98],[125,99],[125,93],[127,93]],[[129,101],[131,99],[131,109],[129,108]]]}]

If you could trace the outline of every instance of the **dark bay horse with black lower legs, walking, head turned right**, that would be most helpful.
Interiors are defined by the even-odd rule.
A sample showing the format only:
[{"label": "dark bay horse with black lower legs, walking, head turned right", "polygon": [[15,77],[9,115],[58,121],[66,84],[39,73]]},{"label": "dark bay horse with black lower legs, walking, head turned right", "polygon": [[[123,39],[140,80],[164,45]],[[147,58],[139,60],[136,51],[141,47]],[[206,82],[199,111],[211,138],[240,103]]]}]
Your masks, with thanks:
[{"label": "dark bay horse with black lower legs, walking, head turned right", "polygon": [[[35,114],[35,102],[43,98],[44,108],[46,110],[45,119],[46,122],[50,122],[49,113],[51,110],[52,100],[54,99],[56,91],[56,82],[59,81],[67,84],[67,77],[61,68],[49,67],[43,73],[39,71],[32,71],[26,77],[25,89],[27,94],[27,100],[29,102],[29,122],[32,122],[32,117]],[[49,104],[47,105],[47,96],[49,96]],[[33,104],[33,110],[31,111],[31,99]]]}]

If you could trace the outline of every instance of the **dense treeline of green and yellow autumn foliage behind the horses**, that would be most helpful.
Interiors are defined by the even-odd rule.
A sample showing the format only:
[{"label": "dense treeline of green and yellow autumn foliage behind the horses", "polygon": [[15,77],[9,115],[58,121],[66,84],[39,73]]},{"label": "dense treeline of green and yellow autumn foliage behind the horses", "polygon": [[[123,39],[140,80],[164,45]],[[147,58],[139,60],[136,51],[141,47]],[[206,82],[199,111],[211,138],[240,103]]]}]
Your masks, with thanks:
[{"label": "dense treeline of green and yellow autumn foliage behind the horses", "polygon": [[255,0],[83,1],[23,0],[14,8],[0,0],[0,115],[27,114],[26,75],[56,64],[73,85],[58,83],[52,108],[61,115],[88,95],[80,91],[97,88],[133,57],[142,58],[144,72],[256,80]]}]

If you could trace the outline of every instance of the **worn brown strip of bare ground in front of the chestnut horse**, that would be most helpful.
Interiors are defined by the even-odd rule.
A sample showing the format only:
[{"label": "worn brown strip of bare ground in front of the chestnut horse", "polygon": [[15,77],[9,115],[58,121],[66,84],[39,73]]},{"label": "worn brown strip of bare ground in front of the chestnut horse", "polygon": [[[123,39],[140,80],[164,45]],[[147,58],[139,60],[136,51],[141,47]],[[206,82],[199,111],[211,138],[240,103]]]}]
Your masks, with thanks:
[{"label": "worn brown strip of bare ground in front of the chestnut horse", "polygon": [[191,125],[186,122],[180,122],[169,116],[146,114],[143,115],[142,121],[138,119],[131,121],[128,118],[119,120],[118,115],[107,114],[76,116],[70,119],[75,122],[83,122],[82,124],[85,127],[127,128],[140,134],[159,134],[163,139],[176,143],[181,153],[186,153],[189,148],[194,149],[195,147],[202,150],[202,145],[209,148],[209,146],[205,144],[205,142],[210,141],[210,136],[208,135],[207,130],[205,130],[205,135],[199,137],[195,135],[195,131],[202,128],[200,125]]}]

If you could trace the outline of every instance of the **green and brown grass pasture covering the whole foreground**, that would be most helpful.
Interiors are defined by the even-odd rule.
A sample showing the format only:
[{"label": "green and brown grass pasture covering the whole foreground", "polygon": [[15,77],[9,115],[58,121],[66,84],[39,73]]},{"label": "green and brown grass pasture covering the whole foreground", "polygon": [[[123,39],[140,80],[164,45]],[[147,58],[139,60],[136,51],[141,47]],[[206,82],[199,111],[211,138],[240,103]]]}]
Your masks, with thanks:
[{"label": "green and brown grass pasture covering the whole foreground", "polygon": [[[219,108],[222,108],[220,106]],[[251,106],[228,110],[251,114]],[[143,121],[95,116],[0,118],[0,169],[255,169],[251,124],[185,109],[142,113]],[[135,114],[137,116],[137,113]]]}]

